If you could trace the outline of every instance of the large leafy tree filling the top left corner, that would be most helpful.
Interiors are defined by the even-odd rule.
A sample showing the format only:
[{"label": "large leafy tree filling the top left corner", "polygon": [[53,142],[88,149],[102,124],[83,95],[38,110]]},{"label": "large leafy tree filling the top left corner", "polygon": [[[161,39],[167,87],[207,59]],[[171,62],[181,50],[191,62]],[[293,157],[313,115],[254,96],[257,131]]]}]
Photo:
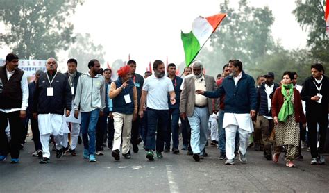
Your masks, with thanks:
[{"label": "large leafy tree filling the top left corner", "polygon": [[74,25],[68,21],[83,0],[0,0],[0,22],[8,33],[0,34],[0,42],[20,58],[56,57],[74,42]]}]

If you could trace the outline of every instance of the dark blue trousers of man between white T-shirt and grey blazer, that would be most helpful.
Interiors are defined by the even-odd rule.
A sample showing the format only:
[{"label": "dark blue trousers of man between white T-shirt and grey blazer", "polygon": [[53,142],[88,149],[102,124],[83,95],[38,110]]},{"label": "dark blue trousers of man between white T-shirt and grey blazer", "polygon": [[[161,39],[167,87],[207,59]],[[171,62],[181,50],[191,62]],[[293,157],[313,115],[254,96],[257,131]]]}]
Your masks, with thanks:
[{"label": "dark blue trousers of man between white T-shirt and grey blazer", "polygon": [[[170,116],[171,115],[171,116]],[[172,133],[172,140],[173,140],[173,148],[178,149],[179,139],[178,139],[178,120],[179,120],[179,108],[171,108],[169,109],[169,121],[168,124],[166,138],[165,138],[165,147],[170,149],[170,141],[171,141],[171,133]]]}]

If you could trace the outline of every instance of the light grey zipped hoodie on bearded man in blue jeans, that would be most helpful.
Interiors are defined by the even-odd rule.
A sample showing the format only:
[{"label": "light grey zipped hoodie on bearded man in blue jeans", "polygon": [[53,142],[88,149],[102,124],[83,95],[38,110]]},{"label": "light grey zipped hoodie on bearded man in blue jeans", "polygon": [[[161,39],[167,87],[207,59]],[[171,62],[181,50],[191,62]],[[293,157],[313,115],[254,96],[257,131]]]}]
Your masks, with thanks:
[{"label": "light grey zipped hoodie on bearded man in blue jeans", "polygon": [[93,78],[89,72],[80,76],[76,87],[74,110],[80,108],[81,112],[91,112],[105,108],[105,79],[100,74]]}]

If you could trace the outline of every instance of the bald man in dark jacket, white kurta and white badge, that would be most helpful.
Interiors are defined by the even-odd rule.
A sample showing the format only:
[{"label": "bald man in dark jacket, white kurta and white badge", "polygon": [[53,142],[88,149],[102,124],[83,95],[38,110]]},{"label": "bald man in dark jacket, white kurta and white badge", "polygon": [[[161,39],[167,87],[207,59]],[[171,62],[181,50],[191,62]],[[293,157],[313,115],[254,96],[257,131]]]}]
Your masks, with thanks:
[{"label": "bald man in dark jacket, white kurta and white badge", "polygon": [[33,117],[38,120],[42,160],[40,164],[49,162],[49,137],[53,133],[56,142],[56,158],[62,156],[63,135],[69,133],[65,116],[71,110],[71,88],[64,74],[57,72],[57,61],[49,58],[46,62],[47,72],[37,80],[33,98]]}]

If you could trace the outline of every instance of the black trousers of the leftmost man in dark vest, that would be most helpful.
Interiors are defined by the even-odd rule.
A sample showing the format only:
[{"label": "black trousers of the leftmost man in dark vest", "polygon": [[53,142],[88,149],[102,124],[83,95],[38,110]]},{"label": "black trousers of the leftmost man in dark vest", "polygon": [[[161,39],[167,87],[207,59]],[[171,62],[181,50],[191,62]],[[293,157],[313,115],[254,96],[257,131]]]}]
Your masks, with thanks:
[{"label": "black trousers of the leftmost man in dark vest", "polygon": [[[11,158],[19,158],[19,142],[22,140],[24,126],[19,118],[20,111],[5,113],[0,111],[0,154],[10,153]],[[6,127],[10,125],[10,140],[6,135]]]}]

